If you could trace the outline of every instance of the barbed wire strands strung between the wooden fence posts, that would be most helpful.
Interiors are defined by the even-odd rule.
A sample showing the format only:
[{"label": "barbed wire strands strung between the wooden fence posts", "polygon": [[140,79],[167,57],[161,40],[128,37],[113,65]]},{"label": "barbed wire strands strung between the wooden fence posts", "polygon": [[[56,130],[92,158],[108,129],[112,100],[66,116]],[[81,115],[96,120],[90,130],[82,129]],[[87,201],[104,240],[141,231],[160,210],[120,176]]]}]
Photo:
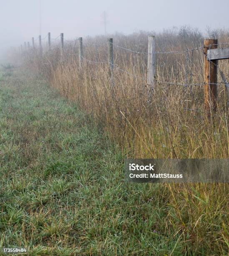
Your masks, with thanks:
[{"label": "barbed wire strands strung between the wooden fence posts", "polygon": [[[34,41],[39,41],[39,43],[40,43],[39,47],[40,47],[40,49],[42,51],[41,41],[45,40],[48,36],[50,37],[50,33],[49,33],[49,35],[47,34],[43,38],[41,38],[41,36],[38,36],[37,38],[33,39],[33,45],[34,45]],[[60,38],[60,42],[57,41],[58,38]],[[77,41],[79,42],[79,38],[75,37],[75,39],[73,39],[73,40],[67,40],[67,39],[65,39],[63,37],[63,33],[61,33],[59,36],[57,36],[55,38],[50,38],[50,43],[49,44],[53,44],[53,45],[56,45],[56,46],[58,46],[58,44],[60,44],[60,48],[64,49],[64,42],[65,42],[66,44],[73,44],[72,49],[74,49],[74,47],[77,44]],[[82,41],[82,38],[81,38],[81,41]],[[218,46],[219,47],[223,47],[223,48],[228,48],[229,47],[229,43],[209,44],[208,48],[210,50],[210,54],[211,54],[211,48],[215,48],[215,47],[218,47]],[[28,48],[29,48],[29,44],[28,44]],[[172,86],[172,85],[174,85],[174,86],[182,86],[182,87],[184,87],[185,90],[190,88],[190,92],[192,91],[193,87],[196,87],[196,86],[206,86],[206,81],[193,83],[193,77],[194,77],[194,74],[193,74],[193,69],[194,69],[194,53],[197,52],[197,51],[201,51],[201,53],[202,54],[204,53],[204,55],[206,57],[206,53],[204,52],[204,49],[206,48],[206,46],[199,46],[199,47],[195,47],[195,48],[191,48],[191,49],[186,49],[186,50],[183,50],[183,51],[173,51],[173,50],[171,50],[171,51],[153,51],[153,52],[148,52],[148,51],[134,51],[134,50],[126,48],[124,46],[120,46],[118,44],[114,44],[113,40],[109,41],[109,39],[108,39],[108,48],[112,49],[112,53],[108,52],[108,56],[109,56],[108,60],[88,59],[88,58],[86,58],[86,56],[83,55],[82,49],[81,50],[79,49],[78,54],[75,53],[75,52],[69,52],[69,51],[65,52],[63,54],[65,56],[71,56],[72,58],[76,58],[77,55],[79,55],[78,57],[79,57],[80,66],[83,65],[82,61],[83,62],[87,62],[89,64],[101,64],[101,65],[107,65],[108,64],[111,77],[114,76],[114,72],[118,71],[118,72],[122,72],[123,74],[126,74],[128,77],[131,77],[132,79],[139,79],[139,80],[144,81],[144,82],[147,81],[147,83],[149,81],[148,81],[148,77],[146,78],[146,76],[147,76],[146,73],[148,72],[149,67],[147,67],[147,72],[146,72],[146,64],[143,63],[143,75],[142,75],[142,77],[137,75],[137,74],[133,74],[134,72],[133,73],[129,72],[125,68],[120,67],[120,65],[118,65],[117,63],[114,63],[114,61],[113,61],[113,59],[114,59],[114,57],[113,57],[113,48],[115,49],[115,52],[117,52],[117,49],[120,49],[121,51],[126,51],[126,52],[129,52],[131,54],[134,54],[135,56],[143,56],[142,57],[143,62],[146,61],[147,58],[148,59],[152,59],[150,56],[179,54],[180,56],[185,58],[185,60],[184,60],[184,69],[185,69],[184,70],[184,81],[185,82],[183,82],[183,83],[181,83],[181,82],[173,82],[173,81],[169,81],[168,79],[160,80],[160,79],[157,79],[157,76],[155,76],[155,77],[153,77],[153,79],[154,79],[153,84],[164,84],[165,86],[168,86],[168,85],[169,86]],[[28,50],[28,49],[25,49],[25,50]],[[22,46],[21,46],[21,52],[23,53]],[[137,59],[138,59],[138,57],[137,57]],[[216,82],[216,83],[211,82],[211,67],[210,67],[211,64],[216,66],[221,73],[222,73],[222,70],[220,69],[218,63],[215,63],[214,61],[211,61],[211,60],[209,60],[209,63],[210,64],[209,64],[209,82],[208,82],[208,85],[209,86],[212,86],[212,85],[218,86],[218,85],[225,84],[224,81]],[[47,65],[47,63],[43,63],[43,64]],[[154,90],[154,88],[152,88],[152,90]],[[204,111],[195,110],[193,108],[184,108],[184,109],[189,110],[189,111],[195,111],[195,112],[198,112],[198,113],[204,113]],[[217,115],[217,114],[213,113],[213,115]]]}]

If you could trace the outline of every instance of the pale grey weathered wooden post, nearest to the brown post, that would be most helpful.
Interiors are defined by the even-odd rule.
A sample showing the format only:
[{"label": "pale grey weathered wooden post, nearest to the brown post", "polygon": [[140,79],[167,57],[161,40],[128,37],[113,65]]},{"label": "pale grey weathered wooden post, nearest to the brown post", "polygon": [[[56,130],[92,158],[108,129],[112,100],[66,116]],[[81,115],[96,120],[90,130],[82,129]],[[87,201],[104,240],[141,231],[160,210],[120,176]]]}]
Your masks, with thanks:
[{"label": "pale grey weathered wooden post, nearest to the brown post", "polygon": [[154,92],[154,81],[156,77],[156,43],[155,36],[148,36],[148,63],[147,63],[147,84],[149,85],[149,100]]}]

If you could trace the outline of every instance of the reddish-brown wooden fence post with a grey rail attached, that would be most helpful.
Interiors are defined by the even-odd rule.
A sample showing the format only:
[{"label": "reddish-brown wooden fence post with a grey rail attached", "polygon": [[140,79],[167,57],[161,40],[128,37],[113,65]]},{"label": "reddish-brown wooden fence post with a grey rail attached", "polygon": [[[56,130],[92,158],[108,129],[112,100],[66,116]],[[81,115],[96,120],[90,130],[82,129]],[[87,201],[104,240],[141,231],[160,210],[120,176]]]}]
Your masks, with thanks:
[{"label": "reddish-brown wooden fence post with a grey rail attached", "polygon": [[217,39],[204,40],[204,105],[206,110],[217,108],[217,64],[218,60],[207,60],[207,50],[218,47]]}]

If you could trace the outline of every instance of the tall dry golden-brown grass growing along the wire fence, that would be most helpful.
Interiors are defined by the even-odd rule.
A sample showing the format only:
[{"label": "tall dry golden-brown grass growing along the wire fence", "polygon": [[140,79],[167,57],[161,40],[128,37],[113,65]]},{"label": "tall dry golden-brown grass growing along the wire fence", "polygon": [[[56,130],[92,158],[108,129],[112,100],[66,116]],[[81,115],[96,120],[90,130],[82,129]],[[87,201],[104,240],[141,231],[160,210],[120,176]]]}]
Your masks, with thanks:
[{"label": "tall dry golden-brown grass growing along the wire fence", "polygon": [[[147,51],[147,33],[131,36],[116,34],[115,45],[133,51]],[[229,42],[229,33],[218,33],[221,43]],[[179,33],[164,31],[156,35],[156,51],[186,51],[203,46],[203,36],[195,30]],[[84,57],[91,61],[107,60],[104,37],[83,40]],[[114,46],[114,87],[107,63],[78,63],[77,41],[65,42],[64,56],[60,46],[43,49],[43,56],[30,51],[25,55],[28,67],[38,70],[70,100],[93,114],[108,136],[121,145],[128,156],[136,158],[228,158],[229,132],[227,96],[224,85],[218,85],[218,109],[208,119],[204,113],[203,49],[181,54],[158,54],[156,86],[148,101],[146,85],[147,54],[135,54]],[[188,58],[187,58],[188,57]],[[229,76],[228,60],[220,69]],[[187,72],[186,72],[187,71]],[[167,84],[170,82],[172,84]],[[221,82],[221,77],[218,77]],[[173,84],[174,83],[174,84]],[[188,84],[187,87],[179,84]],[[168,185],[174,212],[168,221],[183,231],[184,241],[206,242],[223,252],[228,246],[227,184]],[[173,217],[173,218],[172,218]]]}]

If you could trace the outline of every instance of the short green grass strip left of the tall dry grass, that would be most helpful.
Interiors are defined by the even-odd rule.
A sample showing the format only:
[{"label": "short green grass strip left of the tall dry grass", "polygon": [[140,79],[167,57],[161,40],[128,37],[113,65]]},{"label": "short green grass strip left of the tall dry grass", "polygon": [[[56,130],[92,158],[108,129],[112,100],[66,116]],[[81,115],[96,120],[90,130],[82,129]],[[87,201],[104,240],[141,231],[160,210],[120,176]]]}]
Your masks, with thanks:
[{"label": "short green grass strip left of the tall dry grass", "polygon": [[[211,238],[194,243],[195,232],[184,232],[188,203],[180,219],[168,186],[124,182],[123,159],[90,116],[42,79],[23,70],[3,76],[0,247],[25,247],[29,255],[227,254],[221,236],[217,245]],[[212,230],[196,223],[206,226],[203,237],[218,234],[226,220],[210,215]]]}]

